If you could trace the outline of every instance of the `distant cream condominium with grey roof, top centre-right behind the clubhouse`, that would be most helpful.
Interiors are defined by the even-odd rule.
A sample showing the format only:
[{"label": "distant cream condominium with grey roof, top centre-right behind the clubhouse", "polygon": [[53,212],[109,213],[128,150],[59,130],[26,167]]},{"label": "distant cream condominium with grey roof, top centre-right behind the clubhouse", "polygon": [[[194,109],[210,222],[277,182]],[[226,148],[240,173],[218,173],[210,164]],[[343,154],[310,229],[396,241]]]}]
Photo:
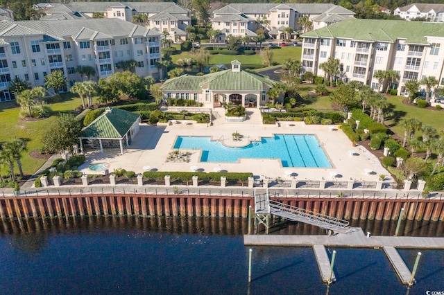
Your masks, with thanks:
[{"label": "distant cream condominium with grey roof, top centre-right behind the clubhouse", "polygon": [[221,30],[222,35],[226,36],[255,35],[257,28],[263,26],[272,37],[284,39],[284,28],[290,27],[295,31],[304,29],[298,24],[298,19],[305,15],[316,29],[350,19],[355,12],[330,3],[231,3],[214,10],[211,22],[214,30]]}]

